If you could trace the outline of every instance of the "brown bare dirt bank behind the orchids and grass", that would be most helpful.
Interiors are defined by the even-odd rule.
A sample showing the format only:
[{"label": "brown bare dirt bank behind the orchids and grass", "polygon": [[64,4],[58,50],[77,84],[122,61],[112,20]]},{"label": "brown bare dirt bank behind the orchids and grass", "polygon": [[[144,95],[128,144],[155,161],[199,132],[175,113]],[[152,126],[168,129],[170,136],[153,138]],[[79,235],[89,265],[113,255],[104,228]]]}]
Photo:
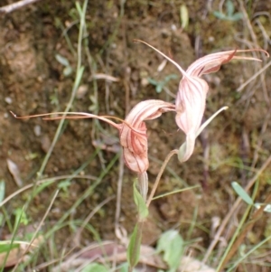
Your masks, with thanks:
[{"label": "brown bare dirt bank behind the orchids and grass", "polygon": [[[1,5],[9,2],[1,1]],[[186,1],[190,17],[186,30],[180,26],[182,1],[126,1],[123,16],[118,1],[90,1],[86,16],[88,36],[84,42],[93,58],[93,66],[89,63],[86,51],[83,51],[85,72],[81,80],[81,92],[77,94],[72,111],[89,112],[89,107],[93,106],[91,97],[95,93],[95,84],[98,89],[96,110],[99,115],[124,118],[143,99],[174,101],[171,93],[175,94],[178,89],[178,82],[182,78],[179,71],[170,63],[166,64],[164,70],[158,71],[164,58],[145,45],[133,42],[134,39],[151,43],[183,68],[210,52],[250,46],[270,50],[264,33],[256,23],[256,19],[261,20],[266,33],[270,34],[270,28],[267,28],[267,25],[270,26],[269,19],[265,15],[257,15],[270,11],[271,7],[266,2],[256,1],[253,5],[245,6],[257,35],[257,41],[254,41],[246,21],[223,21],[212,14],[219,10],[220,1],[212,1],[210,5],[206,1]],[[234,4],[237,10],[240,9],[238,3]],[[5,181],[5,196],[18,190],[6,159],[11,159],[18,166],[24,185],[33,183],[59,124],[59,121],[44,121],[41,117],[15,119],[9,111],[26,116],[65,108],[70,98],[74,72],[65,77],[64,67],[55,56],[60,54],[70,61],[73,70],[76,69],[76,55],[70,51],[63,34],[63,29],[68,30],[67,36],[76,52],[79,22],[74,14],[73,1],[42,0],[12,14],[0,16],[0,180]],[[260,54],[257,56],[261,57]],[[230,183],[238,181],[246,186],[257,169],[266,162],[271,150],[268,127],[270,70],[262,78],[258,77],[240,92],[237,91],[243,82],[265,65],[265,61],[232,61],[219,72],[205,78],[210,91],[204,118],[210,117],[222,106],[229,106],[229,110],[221,113],[205,129],[187,163],[180,164],[176,157],[169,163],[169,170],[165,172],[157,194],[185,187],[182,181],[200,187],[152,203],[150,220],[145,228],[145,243],[154,243],[164,230],[178,228],[183,239],[190,241],[192,254],[201,258],[213,238],[212,221],[216,217],[222,220],[236,198]],[[94,80],[95,73],[115,77],[117,81]],[[178,75],[178,78],[166,85],[171,93],[164,90],[157,93],[154,85],[148,83],[148,78],[162,81],[172,74]],[[80,172],[82,175],[99,176],[119,150],[117,131],[102,123],[100,126],[103,129],[93,132],[92,120],[67,121],[43,175],[53,177],[74,173],[95,153],[98,143],[102,143],[99,155]],[[177,131],[172,113],[147,122],[147,127],[150,155],[148,173],[152,187],[161,162],[172,149],[182,145],[184,136]],[[117,193],[118,168],[117,161],[92,197],[83,201],[70,217],[84,220],[99,202]],[[269,166],[259,179],[257,202],[263,202],[270,191],[267,185],[270,183],[270,169]],[[134,178],[134,174],[125,168],[121,224],[128,233],[135,223],[132,199]],[[50,228],[91,183],[93,181],[88,178],[72,179],[68,192],[61,192],[55,202],[54,212],[49,214],[44,228]],[[28,208],[33,222],[41,220],[50,202],[48,197],[56,186],[51,185],[34,198]],[[27,192],[8,202],[6,210],[12,215],[15,207],[23,205],[26,196]],[[110,201],[91,219],[101,239],[115,238],[115,202],[115,199]],[[236,215],[233,222],[237,218]],[[267,215],[253,230],[255,240],[248,239],[248,244],[263,239],[266,220]],[[192,222],[196,222],[193,228]],[[57,237],[61,244],[71,230],[65,231],[64,235],[62,232]],[[232,230],[229,230],[228,235],[231,233]],[[86,234],[84,239],[85,243],[89,243],[95,238]]]}]

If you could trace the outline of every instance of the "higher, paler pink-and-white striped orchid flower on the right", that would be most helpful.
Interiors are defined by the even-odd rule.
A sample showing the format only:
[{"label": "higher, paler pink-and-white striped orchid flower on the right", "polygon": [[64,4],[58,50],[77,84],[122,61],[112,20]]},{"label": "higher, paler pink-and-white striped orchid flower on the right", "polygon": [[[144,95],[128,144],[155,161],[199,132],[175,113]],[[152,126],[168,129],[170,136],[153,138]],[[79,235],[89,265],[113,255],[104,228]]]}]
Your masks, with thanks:
[{"label": "higher, paler pink-and-white striped orchid flower on the right", "polygon": [[[143,41],[135,40],[135,42]],[[218,71],[220,70],[220,66],[222,64],[234,59],[261,61],[253,57],[236,56],[236,53],[238,52],[258,51],[265,52],[266,55],[269,56],[268,53],[262,49],[217,52],[194,61],[185,71],[177,62],[173,61],[163,52],[158,51],[156,48],[154,48],[154,46],[148,44],[147,42],[143,43],[154,49],[154,51],[163,55],[166,60],[172,62],[182,73],[182,80],[179,84],[175,102],[175,121],[177,126],[180,127],[186,135],[186,143],[185,145],[181,146],[178,155],[181,162],[187,161],[192,155],[195,139],[199,135],[199,130],[201,127],[201,119],[203,117],[206,96],[209,89],[208,83],[201,79],[201,75]],[[208,122],[210,122],[210,120],[208,120]]]}]

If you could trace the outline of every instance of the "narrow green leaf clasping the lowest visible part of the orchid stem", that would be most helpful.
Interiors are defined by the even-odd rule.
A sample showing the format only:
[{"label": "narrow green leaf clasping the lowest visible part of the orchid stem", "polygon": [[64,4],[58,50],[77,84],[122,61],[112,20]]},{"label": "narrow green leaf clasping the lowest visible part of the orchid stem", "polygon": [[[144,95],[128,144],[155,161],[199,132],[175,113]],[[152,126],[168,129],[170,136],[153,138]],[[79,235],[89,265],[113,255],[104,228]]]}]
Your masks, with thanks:
[{"label": "narrow green leaf clasping the lowest visible part of the orchid stem", "polygon": [[136,224],[127,249],[127,261],[130,267],[135,267],[139,261],[141,239],[142,233],[138,230],[138,224]]}]

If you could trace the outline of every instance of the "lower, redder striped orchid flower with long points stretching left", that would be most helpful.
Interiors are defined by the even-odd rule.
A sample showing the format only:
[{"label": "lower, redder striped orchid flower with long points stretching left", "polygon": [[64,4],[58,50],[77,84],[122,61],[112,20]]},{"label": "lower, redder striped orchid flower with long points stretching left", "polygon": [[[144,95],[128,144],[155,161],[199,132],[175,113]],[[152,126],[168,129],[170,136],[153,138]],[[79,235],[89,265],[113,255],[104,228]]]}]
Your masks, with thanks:
[{"label": "lower, redder striped orchid flower with long points stretching left", "polygon": [[[160,117],[164,112],[174,111],[175,107],[172,103],[163,100],[145,100],[139,102],[127,115],[122,123],[117,124],[110,118],[118,119],[117,117],[102,117],[84,112],[57,112],[64,118],[97,118],[107,122],[112,127],[116,127],[119,131],[120,145],[123,147],[123,155],[126,166],[137,174],[144,174],[149,166],[147,156],[147,135],[145,120],[151,120]],[[14,115],[14,113],[12,113]],[[44,117],[51,114],[35,115],[31,117]],[[67,117],[73,115],[75,117]],[[14,115],[14,117],[16,117]],[[61,119],[63,117],[46,117],[45,119]],[[26,118],[26,117],[17,117]]]}]

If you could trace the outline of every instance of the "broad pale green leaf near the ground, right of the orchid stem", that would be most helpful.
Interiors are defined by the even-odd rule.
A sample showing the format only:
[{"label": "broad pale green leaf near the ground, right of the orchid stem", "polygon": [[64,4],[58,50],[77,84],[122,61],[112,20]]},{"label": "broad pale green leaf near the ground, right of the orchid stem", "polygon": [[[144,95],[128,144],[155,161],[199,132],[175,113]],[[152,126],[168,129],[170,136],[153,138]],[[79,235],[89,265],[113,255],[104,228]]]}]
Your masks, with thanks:
[{"label": "broad pale green leaf near the ground, right of the orchid stem", "polygon": [[158,240],[157,252],[164,252],[164,261],[171,268],[176,270],[183,254],[183,239],[177,230],[165,231]]}]

